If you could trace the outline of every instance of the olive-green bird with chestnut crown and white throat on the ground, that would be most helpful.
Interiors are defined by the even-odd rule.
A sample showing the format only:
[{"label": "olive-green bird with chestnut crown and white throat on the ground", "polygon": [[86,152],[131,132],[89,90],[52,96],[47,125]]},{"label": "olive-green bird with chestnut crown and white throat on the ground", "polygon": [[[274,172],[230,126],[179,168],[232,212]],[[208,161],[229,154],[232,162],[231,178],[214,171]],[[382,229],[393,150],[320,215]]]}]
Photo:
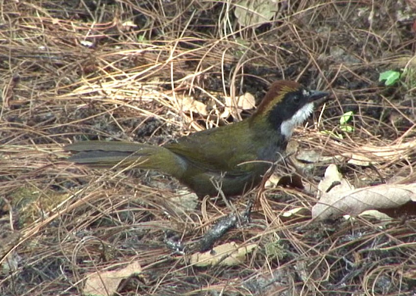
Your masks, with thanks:
[{"label": "olive-green bird with chestnut crown and white throat on the ground", "polygon": [[162,146],[80,141],[64,146],[68,161],[94,168],[115,166],[169,174],[199,197],[245,194],[280,161],[296,125],[329,95],[296,81],[273,82],[254,113],[239,122],[194,132]]}]

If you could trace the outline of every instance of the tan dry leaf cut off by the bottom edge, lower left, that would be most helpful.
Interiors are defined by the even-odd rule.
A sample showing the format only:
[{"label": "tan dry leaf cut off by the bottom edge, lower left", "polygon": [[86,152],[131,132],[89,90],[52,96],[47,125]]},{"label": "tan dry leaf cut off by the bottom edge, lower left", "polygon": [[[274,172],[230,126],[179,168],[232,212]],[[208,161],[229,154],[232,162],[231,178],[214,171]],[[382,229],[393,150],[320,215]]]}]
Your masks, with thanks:
[{"label": "tan dry leaf cut off by the bottom edge, lower left", "polygon": [[93,272],[88,275],[83,295],[113,295],[123,279],[141,271],[140,264],[133,262],[121,270]]}]

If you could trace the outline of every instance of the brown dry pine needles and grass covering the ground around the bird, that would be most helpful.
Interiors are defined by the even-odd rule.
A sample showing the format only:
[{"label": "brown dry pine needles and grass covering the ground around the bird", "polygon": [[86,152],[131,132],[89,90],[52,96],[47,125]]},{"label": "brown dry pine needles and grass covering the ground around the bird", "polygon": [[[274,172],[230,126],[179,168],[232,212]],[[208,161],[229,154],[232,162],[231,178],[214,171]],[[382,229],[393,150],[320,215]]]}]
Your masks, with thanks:
[{"label": "brown dry pine needles and grass covering the ground around the bird", "polygon": [[[415,67],[412,1],[283,1],[257,29],[237,25],[234,1],[98,2],[0,4],[0,249],[2,266],[15,264],[1,271],[1,295],[75,295],[88,272],[133,260],[143,278],[121,295],[413,293],[416,225],[404,216],[318,225],[308,211],[282,215],[310,209],[313,197],[267,190],[249,227],[223,238],[260,247],[242,265],[199,268],[163,239],[195,240],[230,213],[221,201],[184,208],[166,176],[76,167],[61,149],[80,139],[161,144],[216,125],[225,95],[261,99],[282,77],[335,98],[318,127],[296,133],[304,148],[338,155],[414,142],[416,78],[389,89],[378,83],[384,70]],[[403,13],[409,19],[398,22]],[[212,115],[183,112],[186,96],[210,104]],[[337,130],[349,110],[355,132],[344,141],[318,131]],[[338,165],[361,185],[414,182],[415,153],[404,154],[373,168]],[[317,168],[308,182],[321,176]],[[246,201],[232,200],[239,209]],[[270,255],[278,238],[284,251]]]}]

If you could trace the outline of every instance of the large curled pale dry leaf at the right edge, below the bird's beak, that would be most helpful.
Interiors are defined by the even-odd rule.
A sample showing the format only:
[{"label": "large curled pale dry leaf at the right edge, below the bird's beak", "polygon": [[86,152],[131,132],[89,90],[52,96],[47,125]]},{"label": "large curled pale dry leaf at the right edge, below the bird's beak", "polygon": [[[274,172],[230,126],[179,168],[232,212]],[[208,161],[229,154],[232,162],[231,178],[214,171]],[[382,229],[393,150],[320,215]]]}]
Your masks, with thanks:
[{"label": "large curled pale dry leaf at the right edge, below the bird's beak", "polygon": [[312,207],[313,219],[334,219],[344,214],[359,215],[367,210],[393,209],[408,202],[416,202],[416,183],[354,189],[338,171],[335,172],[334,167],[336,170],[335,165],[328,167],[325,178],[318,185],[320,198]]}]

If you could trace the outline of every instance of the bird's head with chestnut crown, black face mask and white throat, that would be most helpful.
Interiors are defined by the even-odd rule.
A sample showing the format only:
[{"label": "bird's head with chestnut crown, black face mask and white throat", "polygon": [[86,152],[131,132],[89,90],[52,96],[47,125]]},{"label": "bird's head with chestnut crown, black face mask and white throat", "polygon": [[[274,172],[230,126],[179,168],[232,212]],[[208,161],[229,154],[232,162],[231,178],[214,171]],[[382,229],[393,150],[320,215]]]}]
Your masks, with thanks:
[{"label": "bird's head with chestnut crown, black face mask and white throat", "polygon": [[252,118],[265,121],[288,139],[293,128],[312,114],[314,101],[328,95],[309,90],[295,81],[278,80],[270,86]]}]

